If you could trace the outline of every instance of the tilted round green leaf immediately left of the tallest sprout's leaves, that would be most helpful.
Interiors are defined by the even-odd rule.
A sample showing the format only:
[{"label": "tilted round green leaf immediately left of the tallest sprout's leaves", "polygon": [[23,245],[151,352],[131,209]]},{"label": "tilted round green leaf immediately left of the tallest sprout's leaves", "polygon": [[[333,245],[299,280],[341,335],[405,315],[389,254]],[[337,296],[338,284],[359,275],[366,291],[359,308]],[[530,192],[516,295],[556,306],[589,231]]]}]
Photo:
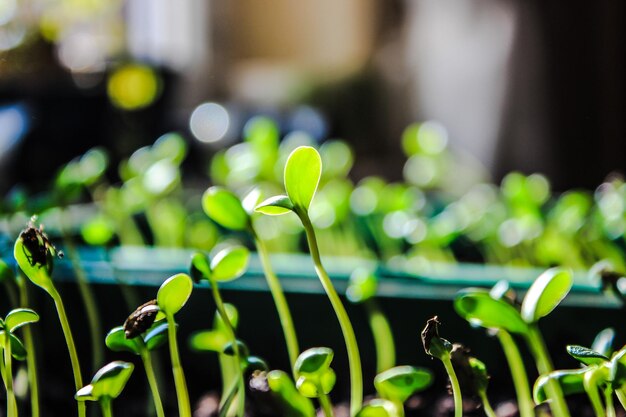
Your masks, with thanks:
[{"label": "tilted round green leaf immediately left of the tallest sprout's leaves", "polygon": [[223,187],[206,190],[202,195],[202,208],[211,220],[227,229],[245,230],[250,225],[250,217],[239,198]]}]

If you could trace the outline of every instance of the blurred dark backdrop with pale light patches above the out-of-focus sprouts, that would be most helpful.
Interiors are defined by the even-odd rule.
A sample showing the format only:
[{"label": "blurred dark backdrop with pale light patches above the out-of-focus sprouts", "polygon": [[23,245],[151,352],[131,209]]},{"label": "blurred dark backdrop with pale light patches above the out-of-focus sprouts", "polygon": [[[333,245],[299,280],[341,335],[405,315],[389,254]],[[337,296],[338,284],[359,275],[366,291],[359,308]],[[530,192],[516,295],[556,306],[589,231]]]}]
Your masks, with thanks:
[{"label": "blurred dark backdrop with pale light patches above the out-of-focus sprouts", "polygon": [[[355,180],[402,177],[435,120],[498,182],[595,188],[626,168],[624,2],[3,0],[0,194],[94,146],[114,162],[180,132],[186,170],[254,115],[339,137]],[[113,164],[115,166],[115,164]]]}]

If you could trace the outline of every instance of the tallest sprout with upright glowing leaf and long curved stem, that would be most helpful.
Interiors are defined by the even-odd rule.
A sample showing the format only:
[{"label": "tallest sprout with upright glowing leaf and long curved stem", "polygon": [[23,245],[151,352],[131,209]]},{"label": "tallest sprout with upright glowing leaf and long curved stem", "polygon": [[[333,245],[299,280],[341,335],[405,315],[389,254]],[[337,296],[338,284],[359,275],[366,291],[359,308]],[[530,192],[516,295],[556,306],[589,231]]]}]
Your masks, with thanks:
[{"label": "tallest sprout with upright glowing leaf and long curved stem", "polygon": [[363,377],[359,347],[345,306],[322,264],[315,230],[308,213],[321,175],[322,160],[319,153],[314,148],[308,146],[296,148],[289,155],[285,164],[284,183],[287,195],[270,197],[257,205],[256,211],[267,215],[281,215],[293,212],[299,217],[304,226],[315,271],[335,311],[348,352],[351,384],[350,415],[354,416],[361,409],[363,402]]}]

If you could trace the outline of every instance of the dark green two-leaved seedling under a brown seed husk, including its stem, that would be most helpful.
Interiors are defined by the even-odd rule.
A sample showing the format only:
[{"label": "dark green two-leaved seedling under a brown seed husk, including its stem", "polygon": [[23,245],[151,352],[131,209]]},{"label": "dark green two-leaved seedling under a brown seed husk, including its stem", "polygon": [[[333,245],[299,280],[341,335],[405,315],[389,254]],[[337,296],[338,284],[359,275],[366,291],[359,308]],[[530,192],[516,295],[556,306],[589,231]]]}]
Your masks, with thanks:
[{"label": "dark green two-leaved seedling under a brown seed husk, including its stem", "polygon": [[[153,306],[154,304],[150,305]],[[144,306],[141,307],[145,309]],[[140,310],[141,307],[138,310]],[[133,315],[131,315],[131,317],[133,317]],[[136,323],[136,320],[134,323]],[[136,324],[128,330],[126,326],[118,326],[111,329],[105,339],[107,347],[112,351],[130,352],[141,357],[157,417],[165,417],[165,412],[163,411],[163,403],[159,394],[159,387],[152,366],[152,355],[150,352],[165,343],[167,340],[167,328],[167,322],[157,322],[145,329],[137,328]]]}]

